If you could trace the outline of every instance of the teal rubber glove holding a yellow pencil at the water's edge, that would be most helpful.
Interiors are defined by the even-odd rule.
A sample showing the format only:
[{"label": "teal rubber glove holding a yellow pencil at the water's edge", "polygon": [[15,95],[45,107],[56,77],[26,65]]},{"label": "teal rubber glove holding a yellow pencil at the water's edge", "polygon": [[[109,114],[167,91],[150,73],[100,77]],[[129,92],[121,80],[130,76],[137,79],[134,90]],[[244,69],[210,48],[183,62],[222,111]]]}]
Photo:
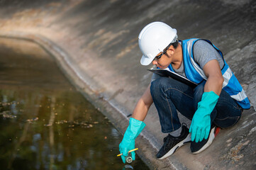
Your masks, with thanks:
[{"label": "teal rubber glove holding a yellow pencil at the water's edge", "polygon": [[[138,137],[140,132],[145,127],[145,123],[140,120],[136,120],[135,118],[130,118],[129,126],[123,135],[123,140],[119,145],[119,151],[121,154],[121,159],[123,160],[123,164],[126,163],[126,156],[128,155],[128,151],[131,149],[135,149],[135,139]],[[130,153],[132,159],[135,160],[135,152]]]}]

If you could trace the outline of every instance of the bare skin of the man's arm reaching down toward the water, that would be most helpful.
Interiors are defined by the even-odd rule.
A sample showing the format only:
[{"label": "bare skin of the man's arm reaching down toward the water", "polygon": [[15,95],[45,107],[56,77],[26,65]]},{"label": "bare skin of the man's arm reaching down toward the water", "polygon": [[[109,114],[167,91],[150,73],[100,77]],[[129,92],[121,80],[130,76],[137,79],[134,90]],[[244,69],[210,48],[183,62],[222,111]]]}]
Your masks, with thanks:
[{"label": "bare skin of the man's arm reaching down toward the water", "polygon": [[150,84],[149,84],[143,96],[141,96],[140,100],[135,106],[132,118],[143,121],[146,115],[148,114],[148,110],[150,109],[150,106],[152,105],[152,103],[153,103],[153,99],[150,94]]}]

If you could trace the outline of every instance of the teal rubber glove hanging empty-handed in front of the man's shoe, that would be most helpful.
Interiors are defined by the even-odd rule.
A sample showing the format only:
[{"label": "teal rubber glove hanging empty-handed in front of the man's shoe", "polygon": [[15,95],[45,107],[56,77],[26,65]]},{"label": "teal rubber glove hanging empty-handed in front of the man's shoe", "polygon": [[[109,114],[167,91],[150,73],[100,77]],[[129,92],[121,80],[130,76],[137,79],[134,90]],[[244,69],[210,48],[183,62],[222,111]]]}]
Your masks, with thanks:
[{"label": "teal rubber glove hanging empty-handed in front of the man's shoe", "polygon": [[204,92],[189,128],[191,141],[201,142],[203,139],[207,139],[211,130],[211,112],[216,106],[218,98],[219,96],[213,91]]}]

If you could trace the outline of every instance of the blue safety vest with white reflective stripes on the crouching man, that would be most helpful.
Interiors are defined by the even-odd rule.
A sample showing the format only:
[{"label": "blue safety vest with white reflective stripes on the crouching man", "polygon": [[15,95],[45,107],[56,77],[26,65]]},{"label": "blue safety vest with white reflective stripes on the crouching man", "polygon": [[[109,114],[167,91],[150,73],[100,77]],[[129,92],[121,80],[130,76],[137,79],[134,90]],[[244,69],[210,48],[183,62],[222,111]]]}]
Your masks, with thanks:
[{"label": "blue safety vest with white reflective stripes on the crouching man", "polygon": [[[206,75],[204,74],[203,69],[194,61],[193,56],[193,45],[194,43],[200,40],[198,38],[192,38],[189,40],[182,41],[182,51],[183,51],[183,62],[184,62],[184,71],[187,79],[194,81],[196,84],[199,84],[201,81],[207,80]],[[211,45],[211,41],[206,40]],[[215,45],[213,47],[218,51],[218,53],[223,58],[223,54],[221,50],[218,50]],[[224,66],[221,69],[222,76],[224,78],[222,89],[228,92],[228,94],[237,101],[237,103],[244,109],[250,108],[250,101],[248,100],[243,87],[240,85],[238,79],[236,79],[235,75],[231,71],[230,67],[224,60]],[[174,72],[172,69],[172,64],[169,64],[169,71]]]}]

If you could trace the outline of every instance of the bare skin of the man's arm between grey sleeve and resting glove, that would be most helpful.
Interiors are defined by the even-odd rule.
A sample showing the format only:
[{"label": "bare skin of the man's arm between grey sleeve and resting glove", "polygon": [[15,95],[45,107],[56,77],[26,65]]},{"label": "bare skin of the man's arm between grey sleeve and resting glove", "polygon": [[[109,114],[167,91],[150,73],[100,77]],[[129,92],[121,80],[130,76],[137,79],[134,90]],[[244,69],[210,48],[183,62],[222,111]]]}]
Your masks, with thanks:
[{"label": "bare skin of the man's arm between grey sleeve and resting glove", "polygon": [[223,76],[221,74],[221,68],[217,60],[211,60],[204,65],[204,74],[208,77],[204,86],[204,92],[213,91],[215,94],[220,96]]}]

